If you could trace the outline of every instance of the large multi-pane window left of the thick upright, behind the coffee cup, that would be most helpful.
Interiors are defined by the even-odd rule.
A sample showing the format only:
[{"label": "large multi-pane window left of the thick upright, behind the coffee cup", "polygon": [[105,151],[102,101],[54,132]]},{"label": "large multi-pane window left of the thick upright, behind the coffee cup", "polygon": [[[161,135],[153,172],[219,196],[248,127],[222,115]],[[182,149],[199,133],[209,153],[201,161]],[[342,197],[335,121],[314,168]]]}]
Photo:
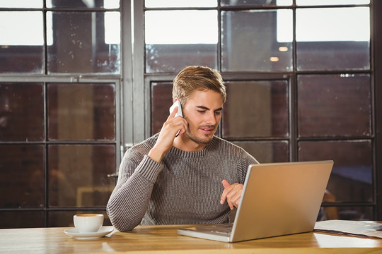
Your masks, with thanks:
[{"label": "large multi-pane window left of the thick upright, behind the coffee cup", "polygon": [[119,1],[0,8],[0,228],[105,213],[120,161]]}]

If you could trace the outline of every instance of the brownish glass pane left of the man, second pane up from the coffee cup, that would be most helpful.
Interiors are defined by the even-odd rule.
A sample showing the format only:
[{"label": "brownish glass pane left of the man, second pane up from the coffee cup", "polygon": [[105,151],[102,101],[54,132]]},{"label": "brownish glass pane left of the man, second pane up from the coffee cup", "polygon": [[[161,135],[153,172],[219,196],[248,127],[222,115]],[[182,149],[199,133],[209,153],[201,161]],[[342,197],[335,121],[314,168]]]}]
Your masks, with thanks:
[{"label": "brownish glass pane left of the man, second pane up from the coffee cup", "polygon": [[115,140],[115,85],[49,84],[50,140]]}]

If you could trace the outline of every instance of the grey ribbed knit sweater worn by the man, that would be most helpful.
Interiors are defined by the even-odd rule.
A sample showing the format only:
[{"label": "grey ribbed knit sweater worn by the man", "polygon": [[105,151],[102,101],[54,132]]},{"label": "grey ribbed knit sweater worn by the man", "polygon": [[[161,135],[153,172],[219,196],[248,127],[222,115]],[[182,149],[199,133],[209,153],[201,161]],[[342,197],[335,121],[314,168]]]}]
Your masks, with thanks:
[{"label": "grey ribbed knit sweater worn by the man", "polygon": [[220,204],[223,179],[244,183],[249,164],[258,163],[241,147],[214,136],[203,150],[172,147],[161,163],[147,156],[157,135],[127,150],[107,205],[112,225],[129,231],[141,224],[228,222]]}]

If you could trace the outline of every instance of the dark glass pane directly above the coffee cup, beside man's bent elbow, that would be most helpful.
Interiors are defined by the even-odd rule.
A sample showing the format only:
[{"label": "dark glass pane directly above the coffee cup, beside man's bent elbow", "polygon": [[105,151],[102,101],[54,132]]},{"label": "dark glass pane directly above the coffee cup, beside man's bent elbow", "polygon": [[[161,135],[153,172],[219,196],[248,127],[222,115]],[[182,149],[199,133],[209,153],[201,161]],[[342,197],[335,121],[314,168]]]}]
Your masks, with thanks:
[{"label": "dark glass pane directly above the coffee cup, beside man's bent elbow", "polygon": [[105,207],[115,186],[115,145],[50,145],[49,205]]}]

